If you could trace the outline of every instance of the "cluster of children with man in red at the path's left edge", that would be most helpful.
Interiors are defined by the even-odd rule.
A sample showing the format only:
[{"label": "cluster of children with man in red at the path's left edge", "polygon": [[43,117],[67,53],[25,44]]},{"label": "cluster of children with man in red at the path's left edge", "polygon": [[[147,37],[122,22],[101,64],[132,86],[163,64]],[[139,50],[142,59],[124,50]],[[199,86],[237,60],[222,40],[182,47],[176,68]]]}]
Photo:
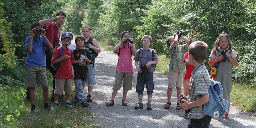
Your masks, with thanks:
[{"label": "cluster of children with man in red at the path's left edge", "polygon": [[[53,23],[51,21],[56,21]],[[91,39],[91,28],[85,26],[82,29],[83,35],[78,35],[75,44],[71,43],[73,33],[67,32],[61,35],[61,46],[54,51],[53,47],[59,45],[59,28],[65,22],[65,13],[57,12],[56,17],[44,19],[31,24],[31,36],[26,38],[25,47],[27,51],[25,87],[28,94],[26,99],[31,102],[31,112],[38,112],[34,102],[34,90],[36,86],[42,86],[45,108],[55,110],[61,108],[58,102],[59,96],[65,91],[65,107],[74,108],[73,105],[82,104],[87,107],[87,102],[92,102],[93,86],[95,79],[95,57],[101,52],[98,42]],[[53,34],[54,33],[54,34]],[[50,40],[50,41],[49,41]],[[50,54],[49,54],[50,53]],[[50,66],[48,69],[53,74],[53,95],[54,108],[48,105],[48,81],[46,68],[48,59],[56,67]],[[48,60],[48,61],[47,61]],[[53,69],[53,70],[52,70]],[[75,82],[74,104],[71,104],[69,97],[72,94],[72,79]],[[87,102],[83,95],[85,84],[88,84]]]}]

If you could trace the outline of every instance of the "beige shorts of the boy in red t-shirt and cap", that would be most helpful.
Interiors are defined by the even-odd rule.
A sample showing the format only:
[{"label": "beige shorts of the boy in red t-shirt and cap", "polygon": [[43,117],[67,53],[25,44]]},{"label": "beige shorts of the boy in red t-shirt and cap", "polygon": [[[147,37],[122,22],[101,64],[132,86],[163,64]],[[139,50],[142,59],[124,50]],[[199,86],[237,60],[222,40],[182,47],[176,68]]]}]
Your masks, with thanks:
[{"label": "beige shorts of the boy in red t-shirt and cap", "polygon": [[72,79],[55,79],[55,94],[61,95],[63,93],[63,89],[65,94],[72,94]]}]

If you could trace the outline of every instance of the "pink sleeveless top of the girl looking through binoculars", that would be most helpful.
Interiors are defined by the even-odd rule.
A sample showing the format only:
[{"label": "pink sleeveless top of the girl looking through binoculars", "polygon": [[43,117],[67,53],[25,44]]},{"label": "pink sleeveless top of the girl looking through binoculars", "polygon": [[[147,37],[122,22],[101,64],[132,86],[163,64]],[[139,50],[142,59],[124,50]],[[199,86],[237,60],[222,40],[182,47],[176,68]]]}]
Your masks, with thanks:
[{"label": "pink sleeveless top of the girl looking through binoculars", "polygon": [[[117,72],[133,72],[133,66],[132,66],[132,54],[133,49],[131,44],[123,44],[124,46],[121,47],[117,66],[116,66],[116,71]],[[119,48],[115,53],[119,52]]]}]

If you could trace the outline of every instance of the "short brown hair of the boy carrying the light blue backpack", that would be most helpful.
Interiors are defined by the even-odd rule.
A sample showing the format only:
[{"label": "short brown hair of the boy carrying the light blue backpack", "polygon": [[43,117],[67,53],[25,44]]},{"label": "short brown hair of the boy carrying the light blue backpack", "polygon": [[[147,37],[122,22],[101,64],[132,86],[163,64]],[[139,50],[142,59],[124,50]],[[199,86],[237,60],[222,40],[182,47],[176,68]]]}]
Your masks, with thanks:
[{"label": "short brown hair of the boy carrying the light blue backpack", "polygon": [[188,54],[191,54],[195,61],[203,63],[206,59],[208,45],[202,41],[195,41],[188,46]]}]

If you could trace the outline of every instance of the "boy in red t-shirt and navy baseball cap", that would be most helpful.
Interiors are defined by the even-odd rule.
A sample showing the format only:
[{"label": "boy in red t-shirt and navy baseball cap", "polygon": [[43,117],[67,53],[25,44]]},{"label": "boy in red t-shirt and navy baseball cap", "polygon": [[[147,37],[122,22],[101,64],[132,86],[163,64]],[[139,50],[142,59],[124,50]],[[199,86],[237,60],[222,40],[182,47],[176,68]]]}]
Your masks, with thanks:
[{"label": "boy in red t-shirt and navy baseball cap", "polygon": [[[72,63],[74,60],[74,55],[72,50],[67,48],[70,43],[71,36],[68,33],[63,33],[61,35],[62,46],[54,51],[52,56],[52,64],[59,63],[60,65],[56,70],[54,75],[55,79],[55,91],[54,91],[54,107],[61,108],[58,102],[59,95],[65,91],[66,108],[73,109],[74,107],[69,102],[69,94],[72,94],[72,79],[74,78],[74,69]],[[62,57],[59,58],[60,49],[62,50]]]}]

